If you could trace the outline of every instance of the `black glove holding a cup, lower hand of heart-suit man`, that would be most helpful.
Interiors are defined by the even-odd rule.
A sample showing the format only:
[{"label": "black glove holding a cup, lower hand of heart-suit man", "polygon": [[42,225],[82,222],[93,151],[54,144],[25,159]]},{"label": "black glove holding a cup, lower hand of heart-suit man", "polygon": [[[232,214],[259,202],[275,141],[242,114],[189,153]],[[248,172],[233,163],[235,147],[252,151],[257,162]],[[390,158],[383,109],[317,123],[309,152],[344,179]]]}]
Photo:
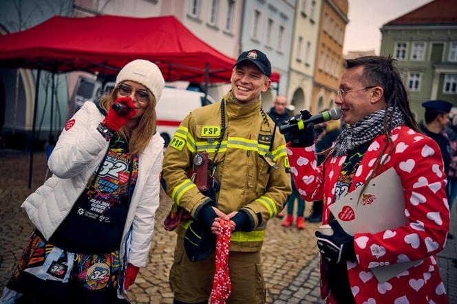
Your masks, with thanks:
[{"label": "black glove holding a cup, lower hand of heart-suit man", "polygon": [[340,261],[355,261],[354,237],[348,235],[338,221],[328,223],[333,229],[333,235],[323,235],[316,231],[317,247],[324,259],[329,263]]}]

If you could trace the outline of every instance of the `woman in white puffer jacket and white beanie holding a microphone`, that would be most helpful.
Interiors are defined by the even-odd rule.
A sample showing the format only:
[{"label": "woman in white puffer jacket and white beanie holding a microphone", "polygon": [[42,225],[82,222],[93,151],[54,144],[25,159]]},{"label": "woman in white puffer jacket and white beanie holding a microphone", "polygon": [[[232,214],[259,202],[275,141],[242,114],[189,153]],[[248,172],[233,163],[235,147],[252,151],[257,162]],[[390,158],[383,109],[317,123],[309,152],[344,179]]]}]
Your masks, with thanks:
[{"label": "woman in white puffer jacket and white beanie holding a microphone", "polygon": [[127,303],[159,206],[163,87],[157,65],[131,61],[111,94],[65,124],[52,177],[22,204],[36,229],[1,303]]}]

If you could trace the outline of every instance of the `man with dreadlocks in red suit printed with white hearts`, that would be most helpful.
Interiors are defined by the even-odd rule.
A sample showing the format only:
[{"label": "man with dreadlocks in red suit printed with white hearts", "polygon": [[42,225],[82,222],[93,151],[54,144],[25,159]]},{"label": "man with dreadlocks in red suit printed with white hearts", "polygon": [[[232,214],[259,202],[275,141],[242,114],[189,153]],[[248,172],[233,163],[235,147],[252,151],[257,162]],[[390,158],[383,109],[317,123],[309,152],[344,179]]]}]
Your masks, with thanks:
[{"label": "man with dreadlocks in red suit printed with white hearts", "polygon": [[[438,145],[418,131],[392,58],[347,60],[339,87],[335,103],[350,127],[335,140],[328,158],[316,165],[312,124],[293,133],[287,150],[299,193],[308,201],[323,199],[323,224],[334,230],[331,236],[316,232],[321,296],[327,303],[448,303],[435,257],[449,227]],[[401,179],[406,224],[348,235],[328,206],[390,168]],[[382,283],[371,271],[416,260],[422,261]]]}]

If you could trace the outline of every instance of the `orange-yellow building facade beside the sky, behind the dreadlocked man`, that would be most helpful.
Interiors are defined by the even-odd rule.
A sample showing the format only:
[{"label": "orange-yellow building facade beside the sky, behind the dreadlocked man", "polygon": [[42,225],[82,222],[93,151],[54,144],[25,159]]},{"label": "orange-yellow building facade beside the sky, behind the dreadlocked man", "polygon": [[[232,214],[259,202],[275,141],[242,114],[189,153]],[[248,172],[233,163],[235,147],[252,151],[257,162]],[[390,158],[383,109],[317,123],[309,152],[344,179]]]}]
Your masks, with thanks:
[{"label": "orange-yellow building facade beside the sky, behind the dreadlocked man", "polygon": [[311,112],[334,106],[343,70],[343,41],[348,0],[323,0],[317,45]]}]

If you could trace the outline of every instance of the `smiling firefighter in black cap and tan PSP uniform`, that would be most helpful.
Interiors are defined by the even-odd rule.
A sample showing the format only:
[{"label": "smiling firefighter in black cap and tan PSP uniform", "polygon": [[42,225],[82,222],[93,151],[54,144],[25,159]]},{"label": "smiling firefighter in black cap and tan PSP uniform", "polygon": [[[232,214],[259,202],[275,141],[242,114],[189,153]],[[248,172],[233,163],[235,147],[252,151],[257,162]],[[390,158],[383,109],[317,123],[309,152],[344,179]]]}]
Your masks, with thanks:
[{"label": "smiling firefighter in black cap and tan PSP uniform", "polygon": [[[217,232],[221,219],[230,219],[233,230],[227,303],[266,301],[260,250],[268,220],[290,193],[284,137],[273,132],[274,122],[261,108],[270,76],[270,61],[263,52],[243,52],[233,67],[231,91],[222,102],[184,118],[165,152],[162,177],[167,193],[191,214],[177,229],[169,276],[174,303],[208,303],[215,272],[211,231]],[[204,152],[209,193],[199,191],[187,175]]]}]

